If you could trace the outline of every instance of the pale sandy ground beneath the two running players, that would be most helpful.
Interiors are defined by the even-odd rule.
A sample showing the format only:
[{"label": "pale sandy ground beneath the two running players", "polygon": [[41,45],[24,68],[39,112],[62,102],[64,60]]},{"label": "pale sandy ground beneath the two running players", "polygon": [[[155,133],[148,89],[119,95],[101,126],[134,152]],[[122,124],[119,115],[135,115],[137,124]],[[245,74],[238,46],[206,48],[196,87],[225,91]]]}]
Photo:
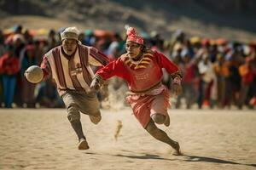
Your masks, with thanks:
[{"label": "pale sandy ground beneath the two running players", "polygon": [[103,110],[99,125],[82,116],[90,150],[77,150],[65,110],[2,109],[0,169],[256,169],[255,111],[169,113],[171,126],[160,127],[179,141],[183,156],[149,136],[130,108]]}]

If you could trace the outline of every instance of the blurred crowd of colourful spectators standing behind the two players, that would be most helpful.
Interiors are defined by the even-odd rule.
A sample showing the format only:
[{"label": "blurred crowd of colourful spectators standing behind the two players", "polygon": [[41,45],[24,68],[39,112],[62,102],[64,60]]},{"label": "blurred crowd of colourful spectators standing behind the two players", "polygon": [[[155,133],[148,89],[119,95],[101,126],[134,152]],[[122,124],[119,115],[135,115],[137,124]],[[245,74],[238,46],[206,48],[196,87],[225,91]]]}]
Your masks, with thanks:
[{"label": "blurred crowd of colourful spectators standing behind the two players", "polygon": [[[20,25],[0,30],[2,107],[64,106],[51,79],[36,85],[23,76],[29,66],[40,65],[44,54],[60,44],[63,30],[32,30]],[[172,107],[255,108],[256,41],[193,37],[182,30],[170,32],[170,37],[157,31],[140,31],[140,34],[148,48],[165,54],[183,73],[183,94],[172,97],[175,99]],[[111,60],[125,53],[125,29],[124,32],[84,30],[79,40],[99,49]],[[172,91],[172,79],[166,72],[163,82]],[[114,89],[125,86],[120,80],[111,83]]]}]

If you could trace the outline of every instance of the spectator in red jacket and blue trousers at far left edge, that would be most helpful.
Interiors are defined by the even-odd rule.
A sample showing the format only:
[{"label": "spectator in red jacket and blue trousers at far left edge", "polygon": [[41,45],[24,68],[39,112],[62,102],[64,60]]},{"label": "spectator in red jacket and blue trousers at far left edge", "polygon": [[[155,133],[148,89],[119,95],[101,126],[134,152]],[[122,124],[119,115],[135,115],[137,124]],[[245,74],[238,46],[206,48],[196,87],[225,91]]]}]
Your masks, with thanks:
[{"label": "spectator in red jacket and blue trousers at far left edge", "polygon": [[20,71],[20,60],[14,53],[14,47],[9,45],[7,53],[0,58],[0,74],[3,76],[4,106],[11,108],[15,95],[17,73]]}]

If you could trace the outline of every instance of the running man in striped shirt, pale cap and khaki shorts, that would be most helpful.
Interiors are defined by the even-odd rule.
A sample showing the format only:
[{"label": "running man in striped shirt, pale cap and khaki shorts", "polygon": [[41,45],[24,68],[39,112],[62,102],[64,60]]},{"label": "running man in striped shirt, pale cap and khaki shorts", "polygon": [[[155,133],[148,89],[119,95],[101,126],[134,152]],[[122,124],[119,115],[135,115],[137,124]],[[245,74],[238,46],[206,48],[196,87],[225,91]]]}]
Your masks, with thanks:
[{"label": "running man in striped shirt, pale cap and khaki shorts", "polygon": [[97,124],[102,116],[95,93],[90,92],[90,82],[94,73],[90,65],[107,65],[108,58],[96,48],[81,45],[79,31],[67,27],[61,32],[61,46],[44,54],[41,68],[44,79],[51,76],[56,83],[58,93],[67,107],[67,118],[79,138],[79,150],[88,150],[80,113],[90,116],[90,121]]}]

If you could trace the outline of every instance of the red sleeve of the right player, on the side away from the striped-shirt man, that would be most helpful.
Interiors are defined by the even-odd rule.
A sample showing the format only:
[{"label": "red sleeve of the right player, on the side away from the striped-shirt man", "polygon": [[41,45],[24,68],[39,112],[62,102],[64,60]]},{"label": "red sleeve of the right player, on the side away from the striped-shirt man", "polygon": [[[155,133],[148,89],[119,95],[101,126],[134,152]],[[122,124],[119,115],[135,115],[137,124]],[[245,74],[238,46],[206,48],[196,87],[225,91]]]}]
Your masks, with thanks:
[{"label": "red sleeve of the right player, on the side away from the striped-shirt man", "polygon": [[177,76],[182,77],[181,71],[179,71],[177,65],[172,63],[170,59],[167,59],[167,57],[164,54],[155,52],[155,56],[160,67],[165,68],[166,71],[172,76],[172,78]]}]

